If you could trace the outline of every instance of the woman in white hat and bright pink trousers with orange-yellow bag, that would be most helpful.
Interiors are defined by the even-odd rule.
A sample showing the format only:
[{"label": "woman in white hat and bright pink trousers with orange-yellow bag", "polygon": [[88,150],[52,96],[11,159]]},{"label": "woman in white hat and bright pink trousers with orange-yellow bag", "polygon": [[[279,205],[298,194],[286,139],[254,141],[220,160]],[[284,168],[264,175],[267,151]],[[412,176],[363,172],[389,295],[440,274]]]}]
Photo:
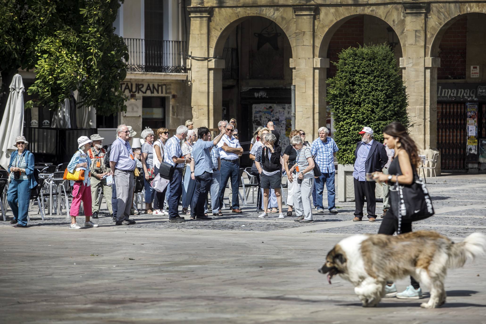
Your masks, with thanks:
[{"label": "woman in white hat and bright pink trousers with orange-yellow bag", "polygon": [[71,215],[70,229],[80,229],[81,226],[76,222],[76,217],[79,216],[79,208],[81,207],[81,201],[83,201],[83,207],[85,210],[85,227],[98,227],[90,221],[92,215],[91,209],[91,182],[89,180],[89,170],[91,169],[91,159],[87,157],[87,152],[91,149],[91,143],[87,136],[81,136],[78,138],[78,151],[74,153],[68,164],[68,171],[75,173],[76,170],[84,170],[85,178],[79,181],[70,181],[72,186],[72,203],[69,210]]}]

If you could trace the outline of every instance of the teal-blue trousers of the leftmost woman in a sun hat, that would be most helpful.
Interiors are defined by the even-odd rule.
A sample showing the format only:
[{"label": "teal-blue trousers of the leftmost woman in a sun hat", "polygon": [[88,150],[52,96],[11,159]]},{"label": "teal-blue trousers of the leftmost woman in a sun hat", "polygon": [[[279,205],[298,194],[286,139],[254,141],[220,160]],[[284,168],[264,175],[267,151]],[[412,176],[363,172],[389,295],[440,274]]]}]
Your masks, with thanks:
[{"label": "teal-blue trousers of the leftmost woman in a sun hat", "polygon": [[20,225],[27,225],[29,201],[29,179],[13,179],[12,176],[12,181],[8,185],[7,202],[14,214],[14,220],[17,220]]}]

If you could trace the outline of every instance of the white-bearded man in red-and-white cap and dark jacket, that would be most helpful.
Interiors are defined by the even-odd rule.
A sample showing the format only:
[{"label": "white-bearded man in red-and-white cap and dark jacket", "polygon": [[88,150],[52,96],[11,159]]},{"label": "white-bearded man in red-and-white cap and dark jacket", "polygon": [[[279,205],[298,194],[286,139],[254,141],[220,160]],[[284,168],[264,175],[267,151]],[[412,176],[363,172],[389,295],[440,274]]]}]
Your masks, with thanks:
[{"label": "white-bearded man in red-and-white cap and dark jacket", "polygon": [[366,197],[366,211],[368,212],[368,221],[376,221],[376,182],[370,178],[366,181],[366,173],[382,172],[383,167],[388,162],[385,146],[373,139],[373,130],[369,127],[363,127],[361,132],[361,141],[354,151],[354,222],[363,219],[364,197]]}]

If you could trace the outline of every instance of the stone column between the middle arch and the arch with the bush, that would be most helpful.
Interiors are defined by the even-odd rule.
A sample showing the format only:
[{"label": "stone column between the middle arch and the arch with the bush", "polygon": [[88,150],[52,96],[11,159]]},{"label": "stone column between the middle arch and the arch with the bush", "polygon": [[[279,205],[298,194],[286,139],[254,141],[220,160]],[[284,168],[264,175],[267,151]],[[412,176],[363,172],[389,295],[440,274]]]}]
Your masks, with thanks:
[{"label": "stone column between the middle arch and the arch with the bush", "polygon": [[313,39],[316,7],[314,5],[294,6],[295,48],[290,67],[293,68],[295,85],[295,126],[306,133],[309,141],[316,138],[319,118],[315,100]]}]

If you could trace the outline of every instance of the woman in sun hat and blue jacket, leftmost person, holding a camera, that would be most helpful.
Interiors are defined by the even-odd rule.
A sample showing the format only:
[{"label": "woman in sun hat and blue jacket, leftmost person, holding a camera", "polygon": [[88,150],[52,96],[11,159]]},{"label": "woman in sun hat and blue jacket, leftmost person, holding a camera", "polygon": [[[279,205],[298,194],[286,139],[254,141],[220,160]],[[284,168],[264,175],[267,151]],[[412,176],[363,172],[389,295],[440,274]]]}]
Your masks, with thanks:
[{"label": "woman in sun hat and blue jacket, leftmost person, holding a camera", "polygon": [[14,151],[8,165],[9,182],[7,201],[14,219],[10,222],[14,227],[27,227],[27,213],[29,212],[30,190],[37,186],[34,178],[34,154],[26,150],[29,144],[24,136],[17,136]]}]

